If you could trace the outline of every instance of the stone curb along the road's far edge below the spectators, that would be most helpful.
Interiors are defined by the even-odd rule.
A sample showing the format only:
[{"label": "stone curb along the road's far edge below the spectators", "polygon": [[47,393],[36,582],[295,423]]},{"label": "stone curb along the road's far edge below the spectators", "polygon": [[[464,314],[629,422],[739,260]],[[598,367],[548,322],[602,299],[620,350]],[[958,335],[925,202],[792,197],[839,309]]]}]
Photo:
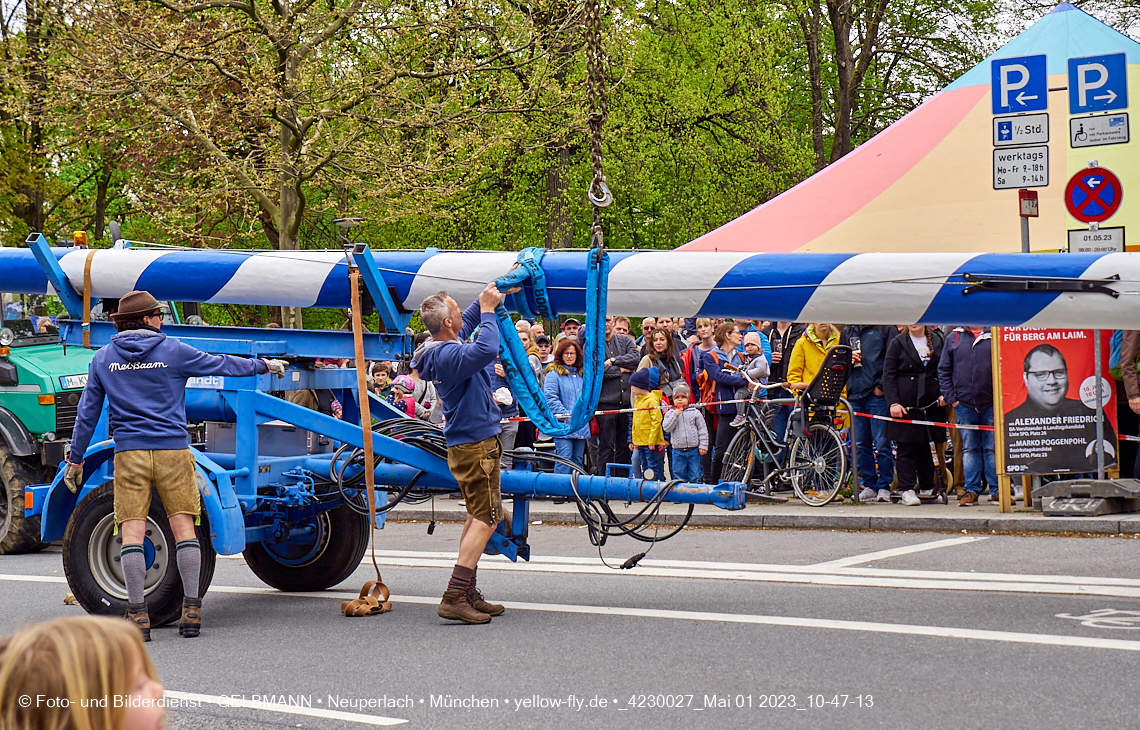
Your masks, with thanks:
[{"label": "stone curb along the road's far edge below the spectators", "polygon": [[[620,516],[620,513],[619,513]],[[662,526],[681,524],[683,516],[661,514]],[[455,509],[437,509],[437,522],[462,522],[466,512]],[[420,521],[433,519],[431,510],[399,509],[391,517],[393,522]],[[581,516],[577,510],[557,511],[531,509],[531,521],[544,524],[581,525]],[[1041,517],[1040,514],[1015,513],[1010,516],[979,514],[977,517],[911,517],[911,516],[874,516],[874,514],[777,514],[772,512],[724,512],[718,514],[693,513],[689,520],[690,527],[731,527],[750,529],[842,529],[855,532],[931,532],[931,533],[1003,533],[1003,534],[1073,534],[1090,535],[1138,535],[1140,518],[1138,517]]]}]

